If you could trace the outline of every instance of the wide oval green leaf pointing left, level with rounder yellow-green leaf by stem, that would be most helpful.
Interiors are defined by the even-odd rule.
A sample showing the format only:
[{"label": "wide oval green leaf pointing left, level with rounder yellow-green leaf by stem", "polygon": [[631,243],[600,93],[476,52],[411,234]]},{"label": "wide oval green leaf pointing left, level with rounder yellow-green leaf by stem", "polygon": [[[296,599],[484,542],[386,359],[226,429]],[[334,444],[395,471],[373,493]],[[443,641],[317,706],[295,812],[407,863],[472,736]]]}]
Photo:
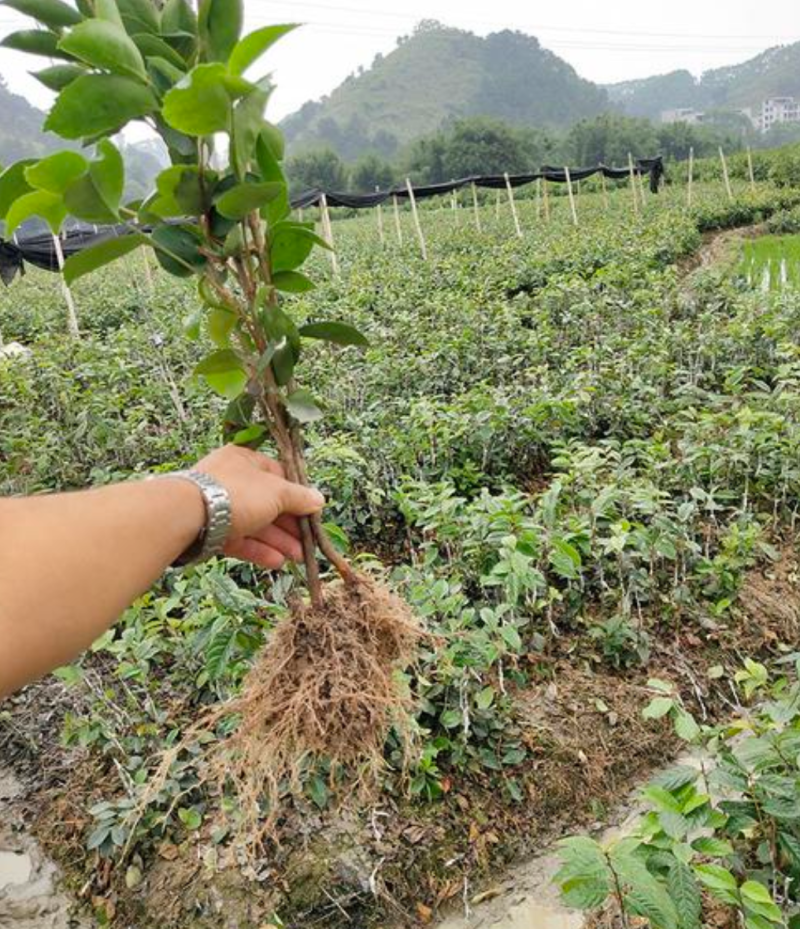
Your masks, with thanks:
[{"label": "wide oval green leaf pointing left, level with rounder yellow-green leaf by stem", "polygon": [[85,74],[58,96],[44,128],[65,139],[116,132],[132,119],[157,109],[153,94],[117,74]]}]

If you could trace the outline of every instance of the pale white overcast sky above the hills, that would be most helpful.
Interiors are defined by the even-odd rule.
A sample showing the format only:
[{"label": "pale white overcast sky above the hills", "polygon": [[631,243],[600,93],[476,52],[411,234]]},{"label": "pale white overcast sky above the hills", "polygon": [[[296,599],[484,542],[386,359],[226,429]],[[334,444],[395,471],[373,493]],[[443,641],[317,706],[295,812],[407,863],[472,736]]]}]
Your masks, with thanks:
[{"label": "pale white overcast sky above the hills", "polygon": [[[800,39],[797,0],[406,0],[370,4],[368,0],[245,0],[248,25],[303,22],[271,57],[278,90],[272,118],[279,119],[306,100],[329,93],[359,65],[368,67],[378,52],[395,47],[422,18],[480,35],[519,29],[600,83],[646,77],[675,68],[700,74],[708,68],[751,58],[771,45]],[[0,8],[5,34],[30,22]],[[46,108],[50,94],[27,71],[40,60],[0,51],[0,73],[9,87]],[[531,88],[535,93],[536,88]]]}]

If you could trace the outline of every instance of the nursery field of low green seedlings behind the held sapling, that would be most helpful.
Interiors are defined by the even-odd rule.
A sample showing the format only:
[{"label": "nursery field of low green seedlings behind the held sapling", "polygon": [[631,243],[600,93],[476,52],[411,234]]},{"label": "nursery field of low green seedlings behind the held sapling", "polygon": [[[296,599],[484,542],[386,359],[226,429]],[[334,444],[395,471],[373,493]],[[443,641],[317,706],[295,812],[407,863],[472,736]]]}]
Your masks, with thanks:
[{"label": "nursery field of low green seedlings behind the held sapling", "polygon": [[[91,654],[0,705],[30,826],[99,925],[431,924],[605,822],[684,742],[727,781],[684,768],[649,789],[640,838],[568,846],[567,901],[601,908],[621,874],[654,929],[794,925],[800,291],[761,286],[769,256],[732,230],[796,231],[800,191],[735,194],[699,182],[689,209],[668,187],[634,215],[626,186],[584,190],[578,226],[563,196],[549,222],[519,198],[521,238],[507,201],[479,231],[445,199],[420,210],[427,261],[408,212],[402,244],[389,210],[383,242],[374,211],[335,218],[339,274],[319,251],[316,289],[289,299],[369,347],[304,355],[325,414],[308,465],[335,544],[429,633],[404,675],[411,757],[392,733],[366,799],[308,770],[244,855],[235,800],[204,776],[224,728],[181,733],[237,691],[297,574],[169,572]],[[191,281],[153,262],[149,283],[144,260],[74,286],[77,340],[55,276],[0,294],[4,340],[31,349],[0,361],[0,494],[185,467],[221,441],[226,401],[193,374],[219,333]],[[741,757],[728,740],[748,726]]]}]

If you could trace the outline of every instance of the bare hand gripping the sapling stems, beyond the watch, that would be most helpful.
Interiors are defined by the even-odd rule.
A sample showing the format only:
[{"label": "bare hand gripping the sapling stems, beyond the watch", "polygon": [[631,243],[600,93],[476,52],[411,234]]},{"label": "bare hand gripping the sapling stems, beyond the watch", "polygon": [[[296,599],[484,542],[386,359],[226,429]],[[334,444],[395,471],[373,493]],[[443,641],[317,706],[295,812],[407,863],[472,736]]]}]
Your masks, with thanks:
[{"label": "bare hand gripping the sapling stems, beyond the watch", "polygon": [[195,470],[218,481],[231,498],[232,522],[225,554],[264,568],[301,561],[298,516],[318,513],[318,490],[287,481],[283,467],[259,452],[226,445],[198,461]]}]

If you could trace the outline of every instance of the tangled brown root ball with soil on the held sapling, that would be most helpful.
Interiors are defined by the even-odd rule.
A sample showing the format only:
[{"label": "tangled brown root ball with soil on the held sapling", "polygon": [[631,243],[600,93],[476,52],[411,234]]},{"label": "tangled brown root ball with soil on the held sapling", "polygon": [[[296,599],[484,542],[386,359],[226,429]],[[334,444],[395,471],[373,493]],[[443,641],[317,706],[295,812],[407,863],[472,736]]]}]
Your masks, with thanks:
[{"label": "tangled brown root ball with soil on the held sapling", "polygon": [[286,785],[296,792],[317,761],[329,764],[332,779],[348,769],[350,791],[368,789],[383,767],[390,728],[408,745],[411,707],[398,672],[420,636],[408,606],[362,575],[328,587],[319,606],[292,606],[241,694],[213,713],[213,721],[240,717],[211,774],[238,795],[251,843],[274,826]]}]

